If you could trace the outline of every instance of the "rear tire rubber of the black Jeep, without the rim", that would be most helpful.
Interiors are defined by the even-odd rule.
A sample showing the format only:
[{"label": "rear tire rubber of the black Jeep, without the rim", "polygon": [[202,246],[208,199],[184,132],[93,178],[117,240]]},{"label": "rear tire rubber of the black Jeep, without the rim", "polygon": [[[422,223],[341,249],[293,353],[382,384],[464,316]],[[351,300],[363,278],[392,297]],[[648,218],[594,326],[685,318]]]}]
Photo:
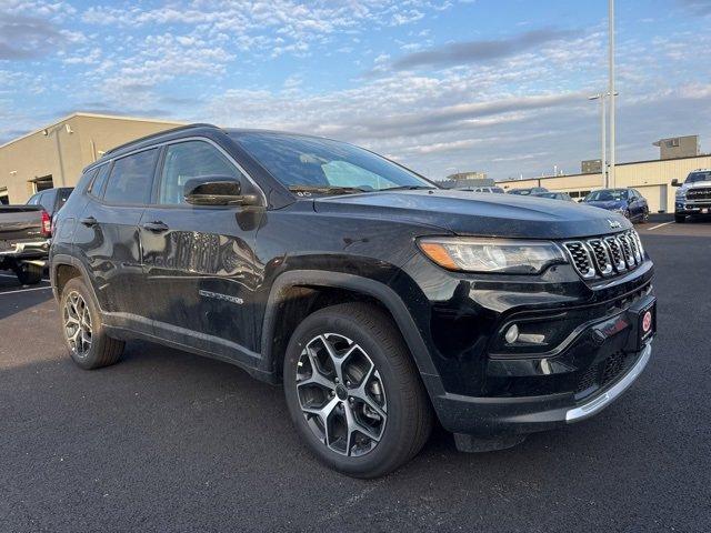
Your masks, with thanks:
[{"label": "rear tire rubber of the black Jeep, without the rim", "polygon": [[[69,339],[69,331],[66,324],[68,313],[68,301],[70,299],[80,296],[84,302],[86,309],[90,321],[90,348],[84,352],[77,350],[72,346],[72,342]],[[97,302],[93,299],[93,293],[87,288],[83,280],[80,278],[73,278],[67,282],[62,289],[60,296],[60,320],[62,326],[62,336],[64,344],[69,350],[69,354],[74,363],[84,370],[100,369],[116,363],[123,353],[123,341],[113,339],[106,333],[103,324],[101,323],[101,314]]]}]

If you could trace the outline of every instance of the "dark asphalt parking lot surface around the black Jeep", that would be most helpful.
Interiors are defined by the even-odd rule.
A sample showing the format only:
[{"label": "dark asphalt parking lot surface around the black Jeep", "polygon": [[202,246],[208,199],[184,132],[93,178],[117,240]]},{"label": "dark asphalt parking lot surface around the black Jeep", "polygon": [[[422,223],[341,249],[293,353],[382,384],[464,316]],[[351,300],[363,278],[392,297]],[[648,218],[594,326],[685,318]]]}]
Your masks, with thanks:
[{"label": "dark asphalt parking lot surface around the black Jeep", "polygon": [[638,229],[659,334],[622,401],[502,452],[439,432],[370,482],[313,460],[281,390],[237,368],[136,342],[79,370],[49,284],[2,273],[0,531],[709,531],[711,223]]}]

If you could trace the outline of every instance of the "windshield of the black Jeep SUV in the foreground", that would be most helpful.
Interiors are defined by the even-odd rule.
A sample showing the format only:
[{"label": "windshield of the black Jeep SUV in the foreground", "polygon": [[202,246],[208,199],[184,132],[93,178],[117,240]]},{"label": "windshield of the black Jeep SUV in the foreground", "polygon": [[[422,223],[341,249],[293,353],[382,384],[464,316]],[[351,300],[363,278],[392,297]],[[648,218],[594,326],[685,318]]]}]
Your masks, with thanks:
[{"label": "windshield of the black Jeep SUV in the foreground", "polygon": [[402,167],[344,142],[283,133],[237,133],[234,140],[293,191],[336,194],[435,189]]}]

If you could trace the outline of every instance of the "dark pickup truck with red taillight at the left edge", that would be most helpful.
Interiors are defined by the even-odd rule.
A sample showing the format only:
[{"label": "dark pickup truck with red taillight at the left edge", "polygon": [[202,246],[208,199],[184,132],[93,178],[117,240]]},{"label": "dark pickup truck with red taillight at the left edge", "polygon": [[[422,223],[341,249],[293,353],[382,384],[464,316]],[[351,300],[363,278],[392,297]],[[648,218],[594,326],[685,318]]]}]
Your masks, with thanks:
[{"label": "dark pickup truck with red taillight at the left edge", "polygon": [[50,232],[50,217],[41,207],[0,205],[0,270],[12,270],[23,285],[39,283]]}]

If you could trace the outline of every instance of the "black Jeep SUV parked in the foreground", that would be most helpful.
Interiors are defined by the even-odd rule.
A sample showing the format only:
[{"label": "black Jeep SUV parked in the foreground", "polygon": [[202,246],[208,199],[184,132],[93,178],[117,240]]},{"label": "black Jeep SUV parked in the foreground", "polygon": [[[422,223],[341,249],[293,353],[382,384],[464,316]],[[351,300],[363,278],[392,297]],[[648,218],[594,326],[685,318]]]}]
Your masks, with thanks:
[{"label": "black Jeep SUV parked in the foreground", "polygon": [[650,359],[652,263],[600,209],[440,189],[370,151],[179,128],[88,167],[50,253],[83,369],[141,338],[283,383],[350,475],[418,453],[433,414],[483,451],[585,419]]}]

